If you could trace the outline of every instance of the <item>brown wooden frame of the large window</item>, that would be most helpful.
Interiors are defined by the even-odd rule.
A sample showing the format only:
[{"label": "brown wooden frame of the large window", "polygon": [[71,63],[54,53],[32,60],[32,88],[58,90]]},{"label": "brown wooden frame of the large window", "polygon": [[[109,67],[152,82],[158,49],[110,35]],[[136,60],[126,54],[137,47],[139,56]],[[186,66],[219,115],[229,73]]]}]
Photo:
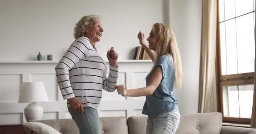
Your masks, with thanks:
[{"label": "brown wooden frame of the large window", "polygon": [[[256,4],[256,3],[253,3]],[[254,9],[255,17],[255,9]],[[253,13],[250,12],[250,13]],[[248,14],[248,13],[246,13]],[[243,15],[246,15],[243,14]],[[240,16],[243,16],[240,15]],[[237,17],[240,17],[237,16]],[[237,18],[235,17],[235,18]],[[231,18],[234,19],[234,18]],[[230,19],[228,19],[230,20]],[[225,20],[227,21],[227,20]],[[221,21],[222,22],[222,21]],[[223,107],[223,86],[224,85],[243,85],[243,84],[253,84],[254,83],[254,72],[232,74],[232,75],[222,75],[221,74],[221,40],[220,40],[220,23],[219,21],[219,0],[217,0],[217,36],[216,36],[216,97],[217,97],[217,111],[222,113],[223,122],[228,123],[238,123],[238,124],[250,124],[251,118],[237,118],[237,117],[227,117],[224,116]],[[254,34],[255,33],[255,23],[254,23]],[[256,48],[255,48],[256,49]]]}]

